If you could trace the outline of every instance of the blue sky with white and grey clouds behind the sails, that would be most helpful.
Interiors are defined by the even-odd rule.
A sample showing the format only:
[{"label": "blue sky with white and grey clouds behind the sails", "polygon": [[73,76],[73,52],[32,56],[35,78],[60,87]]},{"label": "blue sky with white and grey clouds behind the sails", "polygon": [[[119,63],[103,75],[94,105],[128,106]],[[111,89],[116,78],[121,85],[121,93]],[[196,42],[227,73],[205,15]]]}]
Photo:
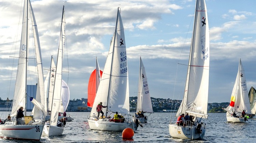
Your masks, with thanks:
[{"label": "blue sky with white and grey clouds behind the sails", "polygon": [[[65,5],[66,48],[63,79],[70,99],[87,98],[96,66],[103,70],[115,29],[117,7],[125,29],[130,96],[137,96],[139,59],[145,66],[151,97],[182,100],[191,44],[195,0],[31,0],[37,22],[43,68],[58,52]],[[206,0],[210,31],[208,103],[229,102],[239,58],[248,90],[256,87],[255,0]],[[0,0],[0,97],[13,98],[23,0]],[[30,45],[32,45],[31,43]],[[33,50],[30,50],[33,51]],[[28,84],[37,82],[33,65]],[[44,70],[46,76],[47,70]]]}]

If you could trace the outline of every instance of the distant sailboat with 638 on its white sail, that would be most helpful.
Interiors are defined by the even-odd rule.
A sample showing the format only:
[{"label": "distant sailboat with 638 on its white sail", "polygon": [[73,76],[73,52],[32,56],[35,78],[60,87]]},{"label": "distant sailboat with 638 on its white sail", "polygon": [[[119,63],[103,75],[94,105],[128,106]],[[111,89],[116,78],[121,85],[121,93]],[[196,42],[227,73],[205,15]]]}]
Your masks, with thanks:
[{"label": "distant sailboat with 638 on its white sail", "polygon": [[[138,99],[137,99],[137,113],[147,112],[153,113],[153,108],[150,99],[150,92],[147,83],[147,76],[145,67],[143,65],[142,59],[140,57],[140,68],[139,68],[139,85],[138,85]],[[147,116],[138,115],[136,113],[135,116],[132,117],[132,120],[136,122],[136,119],[140,123],[147,123]]]}]

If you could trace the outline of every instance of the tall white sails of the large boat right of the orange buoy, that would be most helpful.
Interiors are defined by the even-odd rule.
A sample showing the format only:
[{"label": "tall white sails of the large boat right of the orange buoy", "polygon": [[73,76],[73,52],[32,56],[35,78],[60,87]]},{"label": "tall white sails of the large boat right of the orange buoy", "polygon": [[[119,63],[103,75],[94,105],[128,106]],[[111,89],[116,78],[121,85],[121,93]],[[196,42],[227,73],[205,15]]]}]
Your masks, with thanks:
[{"label": "tall white sails of the large boat right of the orange buoy", "polygon": [[176,117],[190,112],[190,115],[207,118],[209,47],[209,26],[205,1],[197,0],[185,93]]}]

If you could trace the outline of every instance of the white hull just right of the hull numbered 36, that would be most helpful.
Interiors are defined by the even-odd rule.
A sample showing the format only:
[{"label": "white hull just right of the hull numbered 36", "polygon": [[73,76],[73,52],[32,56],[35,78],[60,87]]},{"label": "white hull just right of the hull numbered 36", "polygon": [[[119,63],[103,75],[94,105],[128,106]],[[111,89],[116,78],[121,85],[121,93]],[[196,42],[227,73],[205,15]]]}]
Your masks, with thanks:
[{"label": "white hull just right of the hull numbered 36", "polygon": [[42,136],[60,136],[62,135],[64,128],[52,126],[49,123],[45,123]]}]

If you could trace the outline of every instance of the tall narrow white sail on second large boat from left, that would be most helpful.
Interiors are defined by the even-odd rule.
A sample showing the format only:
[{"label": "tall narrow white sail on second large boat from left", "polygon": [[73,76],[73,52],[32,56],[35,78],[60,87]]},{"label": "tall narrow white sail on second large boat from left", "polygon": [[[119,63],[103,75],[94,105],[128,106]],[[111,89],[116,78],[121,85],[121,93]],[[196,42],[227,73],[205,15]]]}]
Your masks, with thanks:
[{"label": "tall narrow white sail on second large boat from left", "polygon": [[65,21],[64,6],[63,6],[56,74],[55,74],[55,80],[54,80],[53,100],[52,100],[52,107],[51,107],[51,118],[50,118],[50,123],[53,126],[56,126],[58,122],[58,113],[59,113],[60,96],[61,96],[61,84],[62,84],[63,47],[65,45],[65,39],[66,39],[65,24],[66,24],[66,21]]}]

